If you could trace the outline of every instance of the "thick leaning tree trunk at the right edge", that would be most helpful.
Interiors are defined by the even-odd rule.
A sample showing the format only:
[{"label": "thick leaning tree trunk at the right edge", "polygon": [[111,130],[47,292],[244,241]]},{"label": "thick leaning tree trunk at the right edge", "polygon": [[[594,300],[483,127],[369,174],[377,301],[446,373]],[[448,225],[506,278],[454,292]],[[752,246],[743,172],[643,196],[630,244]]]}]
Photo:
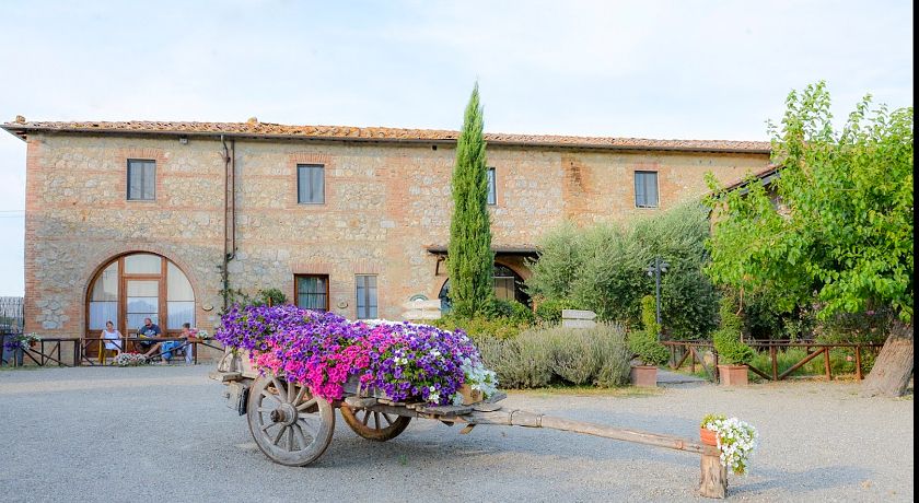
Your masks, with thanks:
[{"label": "thick leaning tree trunk at the right edge", "polygon": [[912,375],[912,321],[894,321],[891,335],[862,383],[862,396],[886,395],[899,397],[906,393]]}]

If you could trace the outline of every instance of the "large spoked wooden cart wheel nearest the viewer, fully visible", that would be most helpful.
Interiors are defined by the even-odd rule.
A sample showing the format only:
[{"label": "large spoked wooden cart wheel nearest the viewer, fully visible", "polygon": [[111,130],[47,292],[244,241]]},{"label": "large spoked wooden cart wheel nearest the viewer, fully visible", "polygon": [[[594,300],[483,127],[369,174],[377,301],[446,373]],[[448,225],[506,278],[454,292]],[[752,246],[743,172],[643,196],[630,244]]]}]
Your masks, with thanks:
[{"label": "large spoked wooden cart wheel nearest the viewer, fully visible", "polygon": [[277,464],[309,465],[331,443],[335,409],[296,383],[270,374],[258,377],[247,409],[252,437]]}]

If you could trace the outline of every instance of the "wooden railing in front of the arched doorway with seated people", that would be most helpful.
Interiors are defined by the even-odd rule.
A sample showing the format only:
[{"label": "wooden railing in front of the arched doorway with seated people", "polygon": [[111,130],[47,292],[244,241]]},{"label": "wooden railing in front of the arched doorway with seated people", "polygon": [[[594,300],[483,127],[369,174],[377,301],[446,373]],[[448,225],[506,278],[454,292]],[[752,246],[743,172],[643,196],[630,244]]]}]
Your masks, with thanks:
[{"label": "wooden railing in front of the arched doorway with seated people", "polygon": [[[57,364],[58,366],[80,366],[90,365],[97,366],[106,363],[105,352],[103,348],[105,343],[118,343],[121,348],[131,350],[139,344],[139,342],[165,342],[165,341],[182,341],[184,342],[178,348],[172,350],[160,349],[156,353],[151,354],[152,358],[162,356],[163,353],[172,352],[175,354],[176,350],[189,348],[193,351],[193,361],[198,363],[198,348],[203,346],[218,351],[223,351],[223,346],[212,339],[198,339],[185,337],[158,337],[158,338],[140,338],[140,337],[121,337],[119,339],[100,339],[97,337],[53,337],[43,338],[34,342],[32,346],[23,350],[23,361],[30,362],[27,364],[35,364],[38,366],[47,366]],[[61,358],[68,355],[67,359]],[[66,360],[69,360],[66,361]],[[16,358],[8,359],[5,362],[0,362],[9,366],[18,366]]]}]

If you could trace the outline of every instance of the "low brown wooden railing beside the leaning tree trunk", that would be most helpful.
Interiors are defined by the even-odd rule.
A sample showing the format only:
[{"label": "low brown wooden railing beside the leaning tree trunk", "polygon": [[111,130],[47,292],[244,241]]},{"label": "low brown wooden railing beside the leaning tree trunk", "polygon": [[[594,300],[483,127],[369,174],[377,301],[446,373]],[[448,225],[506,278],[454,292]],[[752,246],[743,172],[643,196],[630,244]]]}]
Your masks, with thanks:
[{"label": "low brown wooden railing beside the leaning tree trunk", "polygon": [[[718,351],[714,350],[714,344],[711,341],[668,340],[663,341],[663,344],[671,350],[671,360],[668,363],[671,369],[682,369],[686,361],[689,360],[690,372],[696,373],[696,364],[698,363],[705,370],[709,381],[718,383]],[[856,378],[861,381],[864,378],[862,375],[862,355],[864,351],[872,351],[876,354],[883,346],[880,342],[791,342],[780,340],[754,341],[747,342],[747,344],[758,352],[769,352],[769,369],[763,370],[749,365],[751,372],[767,381],[782,381],[821,355],[824,359],[824,377],[829,381],[833,378],[829,352],[834,349],[849,349],[853,352]],[[805,355],[784,372],[779,373],[779,351],[790,348],[803,348]],[[711,353],[711,362],[706,361],[706,352]]]}]

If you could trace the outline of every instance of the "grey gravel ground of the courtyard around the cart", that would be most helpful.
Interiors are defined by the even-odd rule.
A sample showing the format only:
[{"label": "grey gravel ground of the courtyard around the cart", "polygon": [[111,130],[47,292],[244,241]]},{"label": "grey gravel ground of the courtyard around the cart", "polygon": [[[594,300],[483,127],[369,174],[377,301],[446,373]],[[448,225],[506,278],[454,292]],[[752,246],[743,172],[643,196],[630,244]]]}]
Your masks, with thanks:
[{"label": "grey gravel ground of the courtyard around the cart", "polygon": [[[11,501],[690,501],[699,458],[555,431],[418,420],[387,443],[344,421],[313,466],[255,446],[211,367],[0,372],[0,494]],[[758,426],[744,501],[912,501],[912,399],[852,383],[512,393],[510,407],[698,435],[707,412]]]}]

